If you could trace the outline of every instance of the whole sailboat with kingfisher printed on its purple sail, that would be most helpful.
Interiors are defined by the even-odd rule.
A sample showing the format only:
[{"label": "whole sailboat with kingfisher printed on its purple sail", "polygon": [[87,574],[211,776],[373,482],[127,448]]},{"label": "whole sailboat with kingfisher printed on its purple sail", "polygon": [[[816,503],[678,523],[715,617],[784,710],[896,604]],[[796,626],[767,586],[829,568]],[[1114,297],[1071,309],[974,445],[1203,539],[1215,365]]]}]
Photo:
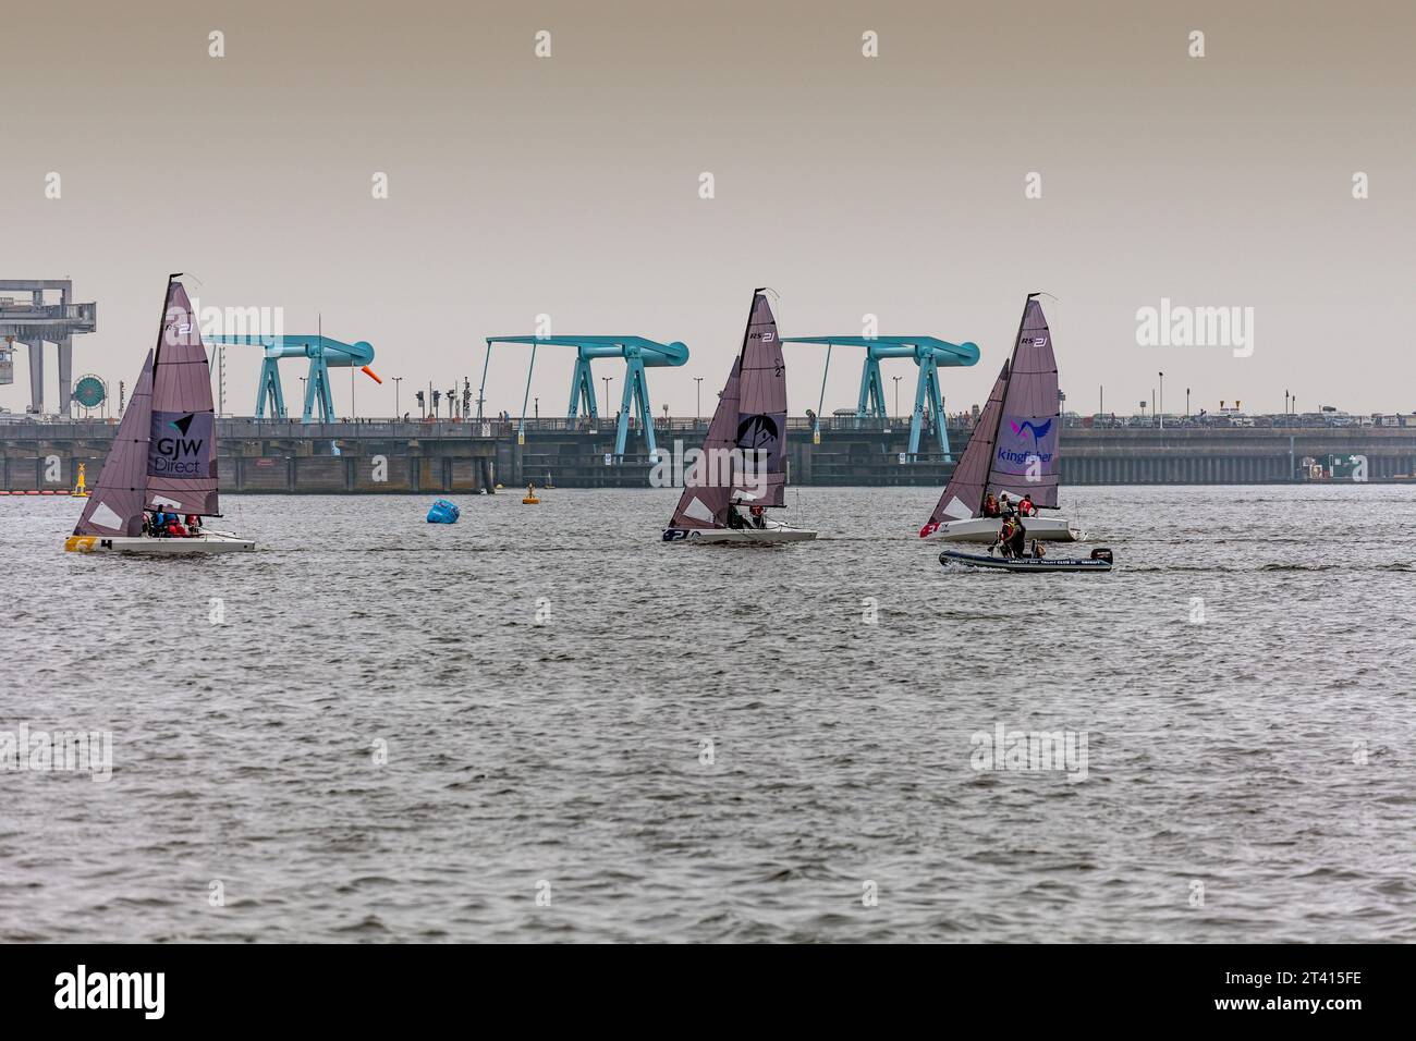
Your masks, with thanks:
[{"label": "whole sailboat with kingfisher printed on its purple sail", "polygon": [[[1038,293],[1029,293],[1012,357],[1004,363],[939,504],[920,538],[993,542],[1003,524],[984,517],[984,500],[1004,491],[1024,494],[1041,510],[1058,506],[1058,436],[1062,428],[1058,365]],[[1028,538],[1075,542],[1082,530],[1063,517],[1025,517]]]}]

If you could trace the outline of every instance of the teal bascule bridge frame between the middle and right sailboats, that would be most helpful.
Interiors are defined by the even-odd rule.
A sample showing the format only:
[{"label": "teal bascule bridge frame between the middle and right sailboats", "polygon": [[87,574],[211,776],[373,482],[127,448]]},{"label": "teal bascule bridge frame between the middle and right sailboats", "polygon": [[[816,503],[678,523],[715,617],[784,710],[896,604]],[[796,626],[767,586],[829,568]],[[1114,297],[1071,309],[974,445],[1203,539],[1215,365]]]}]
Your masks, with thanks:
[{"label": "teal bascule bridge frame between the middle and right sailboats", "polygon": [[861,394],[855,402],[855,416],[875,416],[882,422],[889,419],[885,408],[885,385],[881,380],[881,358],[913,358],[919,374],[915,380],[915,412],[909,423],[909,455],[919,455],[923,431],[925,406],[935,416],[935,435],[944,462],[953,462],[949,448],[949,429],[944,422],[943,394],[939,389],[939,368],[974,365],[978,363],[978,344],[949,343],[933,336],[784,336],[782,343],[826,344],[826,368],[821,372],[821,397],[813,433],[821,429],[821,406],[826,402],[826,377],[831,371],[831,347],[864,347],[865,364],[861,367]]}]

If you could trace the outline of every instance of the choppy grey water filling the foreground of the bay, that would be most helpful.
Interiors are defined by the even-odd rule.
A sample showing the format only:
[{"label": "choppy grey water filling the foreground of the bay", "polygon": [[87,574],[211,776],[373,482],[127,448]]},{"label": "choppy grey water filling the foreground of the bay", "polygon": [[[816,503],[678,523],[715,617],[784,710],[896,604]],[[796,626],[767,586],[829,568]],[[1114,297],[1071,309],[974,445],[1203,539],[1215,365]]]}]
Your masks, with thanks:
[{"label": "choppy grey water filling the foreground of the bay", "polygon": [[[113,735],[0,772],[0,939],[1416,939],[1416,489],[1080,489],[1119,567],[1051,578],[789,494],[821,541],[246,497],[261,552],[170,561],[0,499],[0,731]],[[998,724],[1085,780],[974,769]]]}]

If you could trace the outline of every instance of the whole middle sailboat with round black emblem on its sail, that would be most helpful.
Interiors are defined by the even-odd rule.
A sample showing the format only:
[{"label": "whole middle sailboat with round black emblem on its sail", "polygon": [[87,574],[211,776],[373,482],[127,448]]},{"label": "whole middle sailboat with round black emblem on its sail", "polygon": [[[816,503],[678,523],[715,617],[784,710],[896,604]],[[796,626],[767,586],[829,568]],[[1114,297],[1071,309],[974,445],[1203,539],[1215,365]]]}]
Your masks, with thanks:
[{"label": "whole middle sailboat with round black emblem on its sail", "polygon": [[685,469],[684,493],[664,530],[666,542],[775,545],[816,538],[814,531],[769,520],[765,513],[786,504],[786,377],[777,320],[765,290],[756,289],[742,350],[728,372],[700,457]]}]

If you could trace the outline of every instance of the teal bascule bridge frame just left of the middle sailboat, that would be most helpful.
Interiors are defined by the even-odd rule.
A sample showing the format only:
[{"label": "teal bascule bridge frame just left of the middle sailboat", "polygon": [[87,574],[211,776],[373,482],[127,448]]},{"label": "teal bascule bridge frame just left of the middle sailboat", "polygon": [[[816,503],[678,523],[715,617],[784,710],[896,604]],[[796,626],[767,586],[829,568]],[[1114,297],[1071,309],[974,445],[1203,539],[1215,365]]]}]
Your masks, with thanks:
[{"label": "teal bascule bridge frame just left of the middle sailboat", "polygon": [[481,388],[477,391],[477,418],[481,418],[481,405],[487,389],[487,367],[491,364],[491,346],[497,343],[525,343],[531,344],[531,361],[527,365],[527,388],[521,398],[521,419],[517,423],[517,439],[525,436],[527,402],[531,399],[531,372],[535,368],[535,351],[541,344],[556,347],[575,347],[575,372],[571,375],[571,404],[566,409],[568,419],[583,415],[588,419],[598,419],[599,412],[595,404],[595,377],[590,363],[595,358],[623,358],[624,360],[624,391],[620,395],[619,423],[615,431],[615,455],[623,457],[624,445],[629,440],[630,409],[639,414],[640,426],[644,429],[644,448],[653,456],[657,452],[654,445],[654,414],[649,404],[649,378],[646,368],[663,365],[678,367],[688,361],[688,347],[674,340],[658,343],[646,340],[641,336],[489,336],[487,355],[481,364]]}]

